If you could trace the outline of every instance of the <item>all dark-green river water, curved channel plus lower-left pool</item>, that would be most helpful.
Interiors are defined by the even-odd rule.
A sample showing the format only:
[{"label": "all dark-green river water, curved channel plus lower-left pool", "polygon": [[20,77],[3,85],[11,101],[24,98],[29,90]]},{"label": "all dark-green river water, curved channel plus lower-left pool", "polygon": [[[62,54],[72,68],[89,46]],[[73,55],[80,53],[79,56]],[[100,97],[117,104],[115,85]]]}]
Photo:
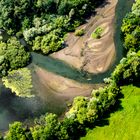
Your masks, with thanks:
[{"label": "all dark-green river water, curved channel plus lower-left pool", "polygon": [[[105,73],[93,75],[78,71],[77,69],[65,64],[64,62],[41,54],[32,52],[32,63],[46,69],[47,71],[61,75],[63,77],[76,80],[80,83],[101,83],[105,77],[108,77],[115,66],[123,57],[123,47],[120,39],[120,27],[124,15],[130,11],[134,0],[119,0],[116,8],[116,33],[114,35],[117,57],[114,65]],[[49,91],[46,91],[49,92]],[[61,110],[58,112],[58,110]],[[13,121],[25,121],[38,117],[45,112],[61,114],[65,107],[55,106],[50,109],[49,102],[43,102],[39,97],[20,98],[11,94],[9,89],[5,89],[0,81],[0,131],[4,132],[8,124]]]}]

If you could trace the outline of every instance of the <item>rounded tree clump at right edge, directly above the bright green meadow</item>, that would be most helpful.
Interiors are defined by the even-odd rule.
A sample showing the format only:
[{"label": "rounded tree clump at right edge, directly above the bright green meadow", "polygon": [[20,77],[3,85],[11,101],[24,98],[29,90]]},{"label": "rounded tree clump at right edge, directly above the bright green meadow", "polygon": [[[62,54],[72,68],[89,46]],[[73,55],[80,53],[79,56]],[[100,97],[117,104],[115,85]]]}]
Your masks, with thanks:
[{"label": "rounded tree clump at right edge, directly above the bright green meadow", "polygon": [[140,51],[129,52],[123,58],[111,75],[112,80],[118,85],[138,80],[140,76]]}]

